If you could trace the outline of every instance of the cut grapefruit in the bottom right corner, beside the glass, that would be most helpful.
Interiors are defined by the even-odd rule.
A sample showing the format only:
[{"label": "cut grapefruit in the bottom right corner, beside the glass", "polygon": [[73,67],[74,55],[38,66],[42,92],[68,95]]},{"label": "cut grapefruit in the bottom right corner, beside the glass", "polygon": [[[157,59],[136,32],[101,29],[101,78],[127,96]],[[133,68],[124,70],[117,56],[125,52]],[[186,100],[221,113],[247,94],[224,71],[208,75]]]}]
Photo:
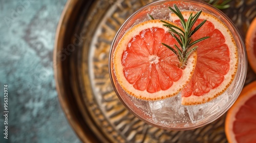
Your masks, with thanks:
[{"label": "cut grapefruit in the bottom right corner, beside the glass", "polygon": [[229,142],[256,142],[256,81],[242,90],[228,110],[225,133]]}]

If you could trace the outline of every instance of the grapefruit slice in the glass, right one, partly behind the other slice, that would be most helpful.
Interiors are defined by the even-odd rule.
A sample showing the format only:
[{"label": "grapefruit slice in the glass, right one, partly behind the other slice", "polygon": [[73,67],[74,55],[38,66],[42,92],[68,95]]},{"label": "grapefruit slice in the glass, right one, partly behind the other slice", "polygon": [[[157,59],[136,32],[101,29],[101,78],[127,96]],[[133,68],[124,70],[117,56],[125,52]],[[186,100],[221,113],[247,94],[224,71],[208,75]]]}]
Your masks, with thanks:
[{"label": "grapefruit slice in the glass, right one, partly behind the other slice", "polygon": [[[190,13],[185,11],[182,15],[187,19]],[[171,16],[174,23],[181,26],[179,18],[175,14]],[[201,13],[194,27],[204,19],[207,21],[192,38],[210,38],[196,45],[197,65],[190,82],[181,91],[183,105],[202,104],[220,96],[237,72],[238,51],[231,32],[217,17],[205,12]]]}]

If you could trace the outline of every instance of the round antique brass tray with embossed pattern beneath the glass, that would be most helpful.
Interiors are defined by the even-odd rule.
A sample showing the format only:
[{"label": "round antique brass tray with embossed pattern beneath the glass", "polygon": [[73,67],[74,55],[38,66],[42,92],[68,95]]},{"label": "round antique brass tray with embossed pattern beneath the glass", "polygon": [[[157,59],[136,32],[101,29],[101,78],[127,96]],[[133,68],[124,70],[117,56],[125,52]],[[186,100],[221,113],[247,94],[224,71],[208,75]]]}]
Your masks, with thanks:
[{"label": "round antique brass tray with embossed pattern beneath the glass", "polygon": [[[135,10],[150,2],[152,1],[90,1],[88,2],[90,7],[87,7],[86,10],[81,8],[79,12],[76,12],[80,13],[77,14],[80,17],[78,16],[73,31],[69,33],[73,36],[66,40],[76,45],[77,41],[74,39],[80,35],[82,43],[77,44],[76,50],[72,51],[71,55],[66,55],[67,60],[56,58],[56,63],[60,62],[57,65],[61,66],[56,66],[55,69],[55,73],[60,71],[65,73],[64,70],[67,68],[69,70],[69,73],[65,74],[66,77],[63,77],[69,77],[66,82],[70,82],[72,93],[69,96],[72,95],[74,101],[67,101],[73,102],[72,106],[67,107],[63,102],[63,97],[65,97],[63,92],[68,90],[65,87],[61,88],[62,82],[65,80],[61,81],[56,76],[56,82],[58,93],[61,94],[60,102],[64,110],[66,109],[65,112],[71,125],[84,142],[92,141],[92,139],[88,139],[90,136],[86,135],[89,129],[83,130],[83,128],[90,128],[94,137],[99,138],[101,142],[227,142],[224,132],[225,114],[215,122],[201,128],[188,131],[168,131],[140,121],[117,98],[112,88],[108,69],[112,40],[124,20]],[[75,0],[69,1],[68,4],[82,5],[82,2]],[[242,37],[245,37],[250,21],[256,17],[256,0],[236,0],[230,2],[230,5],[231,8],[223,12],[235,23]],[[72,9],[68,8],[68,10]],[[61,47],[58,46],[59,42],[63,41],[58,41],[55,48],[61,50]],[[67,43],[69,42],[66,41],[66,45]],[[58,56],[56,53],[55,56]],[[255,77],[249,67],[246,84],[255,80]],[[73,124],[74,120],[70,117],[72,115],[67,108],[79,110],[72,114],[78,118],[77,124]],[[86,125],[80,124],[84,122]],[[79,125],[80,127],[76,128]]]}]

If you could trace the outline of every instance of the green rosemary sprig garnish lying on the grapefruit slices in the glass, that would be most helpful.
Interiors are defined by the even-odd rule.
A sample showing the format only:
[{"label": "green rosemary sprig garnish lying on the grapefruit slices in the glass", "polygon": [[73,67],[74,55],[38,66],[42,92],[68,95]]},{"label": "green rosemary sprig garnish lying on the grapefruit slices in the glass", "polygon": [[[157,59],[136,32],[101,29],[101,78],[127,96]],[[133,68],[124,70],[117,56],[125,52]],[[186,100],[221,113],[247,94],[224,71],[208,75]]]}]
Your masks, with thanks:
[{"label": "green rosemary sprig garnish lying on the grapefruit slices in the glass", "polygon": [[180,18],[181,25],[184,31],[179,27],[172,25],[172,23],[168,23],[164,20],[161,20],[161,21],[164,23],[163,26],[167,27],[169,29],[169,33],[172,34],[172,36],[177,40],[181,49],[176,44],[174,45],[174,47],[171,47],[165,43],[162,43],[162,44],[168,47],[168,49],[170,49],[171,51],[173,51],[175,55],[177,55],[180,61],[179,67],[185,68],[190,54],[192,54],[198,48],[198,46],[194,46],[194,47],[192,46],[204,39],[209,38],[209,37],[203,37],[197,40],[194,39],[194,41],[192,41],[191,39],[191,36],[203,26],[206,20],[203,20],[196,28],[192,29],[198,17],[202,13],[202,11],[197,12],[194,16],[191,13],[187,21],[185,21],[183,15],[181,14],[180,10],[176,5],[174,5],[175,9],[171,7],[168,7],[168,8]]}]

